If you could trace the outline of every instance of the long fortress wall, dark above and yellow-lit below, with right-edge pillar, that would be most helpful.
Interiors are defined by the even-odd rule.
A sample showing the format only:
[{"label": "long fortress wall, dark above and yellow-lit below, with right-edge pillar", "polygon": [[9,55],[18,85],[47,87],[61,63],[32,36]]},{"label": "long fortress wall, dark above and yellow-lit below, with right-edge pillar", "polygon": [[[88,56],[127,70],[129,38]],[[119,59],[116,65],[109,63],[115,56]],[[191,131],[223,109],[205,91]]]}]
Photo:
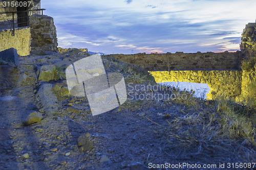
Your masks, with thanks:
[{"label": "long fortress wall, dark above and yellow-lit below, with right-edge pillar", "polygon": [[[147,69],[157,83],[206,83],[210,87],[207,100],[218,95],[241,101],[249,96],[248,86],[256,81],[256,64],[251,70],[241,70],[241,61],[256,54],[256,23],[248,23],[241,38],[241,52],[175,54],[114,54],[106,57],[140,65]],[[165,65],[165,66],[163,66]],[[168,71],[167,71],[168,70]]]}]

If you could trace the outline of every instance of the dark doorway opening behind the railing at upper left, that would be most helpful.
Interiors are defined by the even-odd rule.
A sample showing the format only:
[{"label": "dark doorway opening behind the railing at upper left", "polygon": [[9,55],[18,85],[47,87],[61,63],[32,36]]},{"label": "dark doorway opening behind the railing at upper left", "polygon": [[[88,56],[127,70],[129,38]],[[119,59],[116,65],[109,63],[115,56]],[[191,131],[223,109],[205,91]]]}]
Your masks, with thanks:
[{"label": "dark doorway opening behind the railing at upper left", "polygon": [[[19,0],[18,2],[27,2],[26,0]],[[27,11],[29,10],[29,7],[17,7],[17,22],[18,22],[18,27],[27,27],[29,26],[29,15],[28,12],[21,12],[21,11]]]}]

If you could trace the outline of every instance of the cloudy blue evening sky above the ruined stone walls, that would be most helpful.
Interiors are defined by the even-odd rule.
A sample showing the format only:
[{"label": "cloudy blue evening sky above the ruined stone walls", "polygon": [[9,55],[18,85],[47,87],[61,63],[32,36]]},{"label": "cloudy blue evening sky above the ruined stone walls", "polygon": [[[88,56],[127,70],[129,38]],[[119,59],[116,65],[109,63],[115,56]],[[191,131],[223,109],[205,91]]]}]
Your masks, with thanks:
[{"label": "cloudy blue evening sky above the ruined stone walls", "polygon": [[255,0],[41,0],[58,46],[104,54],[236,52]]}]

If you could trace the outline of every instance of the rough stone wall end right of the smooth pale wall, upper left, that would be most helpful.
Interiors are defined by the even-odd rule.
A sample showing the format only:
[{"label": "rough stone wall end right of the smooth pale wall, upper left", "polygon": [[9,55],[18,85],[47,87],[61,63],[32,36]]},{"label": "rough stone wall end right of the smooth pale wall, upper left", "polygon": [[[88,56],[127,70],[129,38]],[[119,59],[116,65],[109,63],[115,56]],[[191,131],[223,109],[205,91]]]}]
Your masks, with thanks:
[{"label": "rough stone wall end right of the smooth pale wall, upper left", "polygon": [[32,15],[31,54],[44,55],[48,52],[57,52],[57,34],[53,18],[47,15]]}]

